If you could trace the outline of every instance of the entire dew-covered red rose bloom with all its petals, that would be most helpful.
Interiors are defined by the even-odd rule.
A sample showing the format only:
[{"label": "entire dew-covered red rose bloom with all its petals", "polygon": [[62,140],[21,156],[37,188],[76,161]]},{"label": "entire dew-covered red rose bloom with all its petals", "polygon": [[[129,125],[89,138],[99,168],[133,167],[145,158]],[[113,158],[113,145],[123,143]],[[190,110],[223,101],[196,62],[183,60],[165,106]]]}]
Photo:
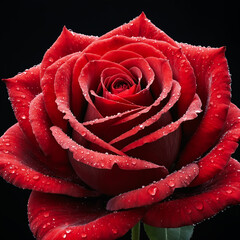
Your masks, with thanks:
[{"label": "entire dew-covered red rose bloom with all its petals", "polygon": [[177,43],[141,14],[101,37],[63,28],[4,81],[18,123],[0,173],[33,190],[37,239],[116,239],[140,220],[192,225],[240,203],[224,47]]}]

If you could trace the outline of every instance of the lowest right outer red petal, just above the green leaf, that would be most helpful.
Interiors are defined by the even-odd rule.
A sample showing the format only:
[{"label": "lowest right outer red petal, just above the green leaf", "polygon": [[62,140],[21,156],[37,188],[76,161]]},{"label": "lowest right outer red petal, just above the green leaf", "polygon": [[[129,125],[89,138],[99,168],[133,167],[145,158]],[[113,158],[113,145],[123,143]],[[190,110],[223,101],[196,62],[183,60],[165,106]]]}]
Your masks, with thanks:
[{"label": "lowest right outer red petal, just above the green leaf", "polygon": [[189,194],[176,194],[175,199],[151,207],[144,222],[163,228],[192,225],[239,203],[240,164],[231,159],[220,174],[199,189],[191,189]]}]

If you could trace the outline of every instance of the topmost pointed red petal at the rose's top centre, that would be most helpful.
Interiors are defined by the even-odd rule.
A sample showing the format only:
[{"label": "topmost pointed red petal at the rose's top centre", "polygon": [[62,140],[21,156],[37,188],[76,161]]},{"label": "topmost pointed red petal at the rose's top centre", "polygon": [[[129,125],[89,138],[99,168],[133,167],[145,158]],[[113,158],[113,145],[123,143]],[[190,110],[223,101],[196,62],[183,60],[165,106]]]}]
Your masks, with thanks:
[{"label": "topmost pointed red petal at the rose's top centre", "polygon": [[162,30],[157,28],[154,24],[152,24],[150,20],[146,18],[144,13],[131,22],[106,33],[100,39],[109,38],[116,35],[124,35],[127,37],[145,37],[166,41],[174,46],[177,46],[175,41]]}]

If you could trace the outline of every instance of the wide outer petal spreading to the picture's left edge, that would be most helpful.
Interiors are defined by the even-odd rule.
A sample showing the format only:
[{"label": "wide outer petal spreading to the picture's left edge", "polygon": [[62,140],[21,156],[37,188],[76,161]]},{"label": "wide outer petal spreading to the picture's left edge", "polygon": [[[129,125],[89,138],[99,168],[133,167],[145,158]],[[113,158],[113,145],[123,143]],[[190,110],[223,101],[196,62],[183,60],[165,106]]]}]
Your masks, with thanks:
[{"label": "wide outer petal spreading to the picture's left edge", "polygon": [[43,162],[44,156],[22,133],[18,124],[0,138],[0,174],[21,188],[74,197],[96,196],[73,182],[54,177]]}]

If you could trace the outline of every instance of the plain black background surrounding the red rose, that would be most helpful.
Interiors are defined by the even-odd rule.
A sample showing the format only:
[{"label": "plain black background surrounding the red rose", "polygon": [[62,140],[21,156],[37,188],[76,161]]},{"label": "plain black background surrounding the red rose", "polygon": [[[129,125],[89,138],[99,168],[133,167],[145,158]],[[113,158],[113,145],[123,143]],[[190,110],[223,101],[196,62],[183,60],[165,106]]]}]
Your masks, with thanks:
[{"label": "plain black background surrounding the red rose", "polygon": [[[240,106],[240,7],[237,1],[29,0],[8,1],[0,9],[0,78],[12,77],[41,62],[44,52],[59,36],[64,25],[78,33],[101,36],[144,11],[155,25],[178,42],[226,46],[232,74],[232,102]],[[1,82],[1,135],[16,121],[7,98]],[[239,151],[234,157],[238,156]],[[2,179],[0,189],[0,238],[34,239],[27,222],[30,191],[19,190]],[[238,239],[239,218],[240,207],[231,207],[198,224],[192,240]]]}]

